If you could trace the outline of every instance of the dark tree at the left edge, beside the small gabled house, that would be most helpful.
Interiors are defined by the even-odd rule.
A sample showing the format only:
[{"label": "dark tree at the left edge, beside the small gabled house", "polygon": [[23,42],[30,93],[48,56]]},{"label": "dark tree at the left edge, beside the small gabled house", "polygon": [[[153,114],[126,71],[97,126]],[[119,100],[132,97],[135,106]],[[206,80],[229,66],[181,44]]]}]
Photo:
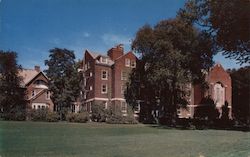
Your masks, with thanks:
[{"label": "dark tree at the left edge, beside the small gabled house", "polygon": [[21,66],[17,64],[17,54],[0,51],[0,107],[5,119],[25,120],[25,90],[18,76]]}]

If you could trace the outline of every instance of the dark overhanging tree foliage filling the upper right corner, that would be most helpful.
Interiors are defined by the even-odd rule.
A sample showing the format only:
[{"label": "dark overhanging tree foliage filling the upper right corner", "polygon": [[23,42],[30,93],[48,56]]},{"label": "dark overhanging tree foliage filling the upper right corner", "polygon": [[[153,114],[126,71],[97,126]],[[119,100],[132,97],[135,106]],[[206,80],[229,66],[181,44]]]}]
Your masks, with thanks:
[{"label": "dark overhanging tree foliage filling the upper right corner", "polygon": [[250,63],[249,0],[189,0],[178,15],[211,34],[217,51]]}]

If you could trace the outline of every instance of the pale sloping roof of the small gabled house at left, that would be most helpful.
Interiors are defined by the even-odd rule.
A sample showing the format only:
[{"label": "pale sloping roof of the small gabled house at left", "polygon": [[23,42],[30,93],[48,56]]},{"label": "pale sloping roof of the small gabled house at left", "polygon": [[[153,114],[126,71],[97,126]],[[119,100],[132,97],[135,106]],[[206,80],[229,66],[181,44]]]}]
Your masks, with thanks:
[{"label": "pale sloping roof of the small gabled house at left", "polygon": [[34,77],[36,77],[40,72],[34,69],[22,69],[19,71],[19,76],[22,77],[21,85],[25,86],[28,84]]}]

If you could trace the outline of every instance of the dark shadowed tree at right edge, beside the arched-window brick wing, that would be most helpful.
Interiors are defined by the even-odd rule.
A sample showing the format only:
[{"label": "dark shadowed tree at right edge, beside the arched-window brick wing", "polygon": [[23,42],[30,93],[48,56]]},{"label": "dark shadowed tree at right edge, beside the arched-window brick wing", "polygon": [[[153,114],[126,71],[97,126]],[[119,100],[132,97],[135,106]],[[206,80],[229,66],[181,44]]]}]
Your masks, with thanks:
[{"label": "dark shadowed tree at right edge, beside the arched-window brick wing", "polygon": [[250,66],[229,72],[232,78],[233,115],[243,123],[250,123]]}]

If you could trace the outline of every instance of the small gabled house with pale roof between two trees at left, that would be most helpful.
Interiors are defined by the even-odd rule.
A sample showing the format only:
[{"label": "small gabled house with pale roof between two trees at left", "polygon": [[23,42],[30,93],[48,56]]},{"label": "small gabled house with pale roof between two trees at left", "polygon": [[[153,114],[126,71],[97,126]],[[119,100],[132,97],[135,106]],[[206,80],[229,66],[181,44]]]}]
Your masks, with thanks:
[{"label": "small gabled house with pale roof between two trees at left", "polygon": [[28,109],[48,108],[53,111],[53,102],[50,99],[48,78],[40,71],[39,66],[34,69],[19,71],[22,77],[21,87],[25,88],[25,99],[28,101]]}]

